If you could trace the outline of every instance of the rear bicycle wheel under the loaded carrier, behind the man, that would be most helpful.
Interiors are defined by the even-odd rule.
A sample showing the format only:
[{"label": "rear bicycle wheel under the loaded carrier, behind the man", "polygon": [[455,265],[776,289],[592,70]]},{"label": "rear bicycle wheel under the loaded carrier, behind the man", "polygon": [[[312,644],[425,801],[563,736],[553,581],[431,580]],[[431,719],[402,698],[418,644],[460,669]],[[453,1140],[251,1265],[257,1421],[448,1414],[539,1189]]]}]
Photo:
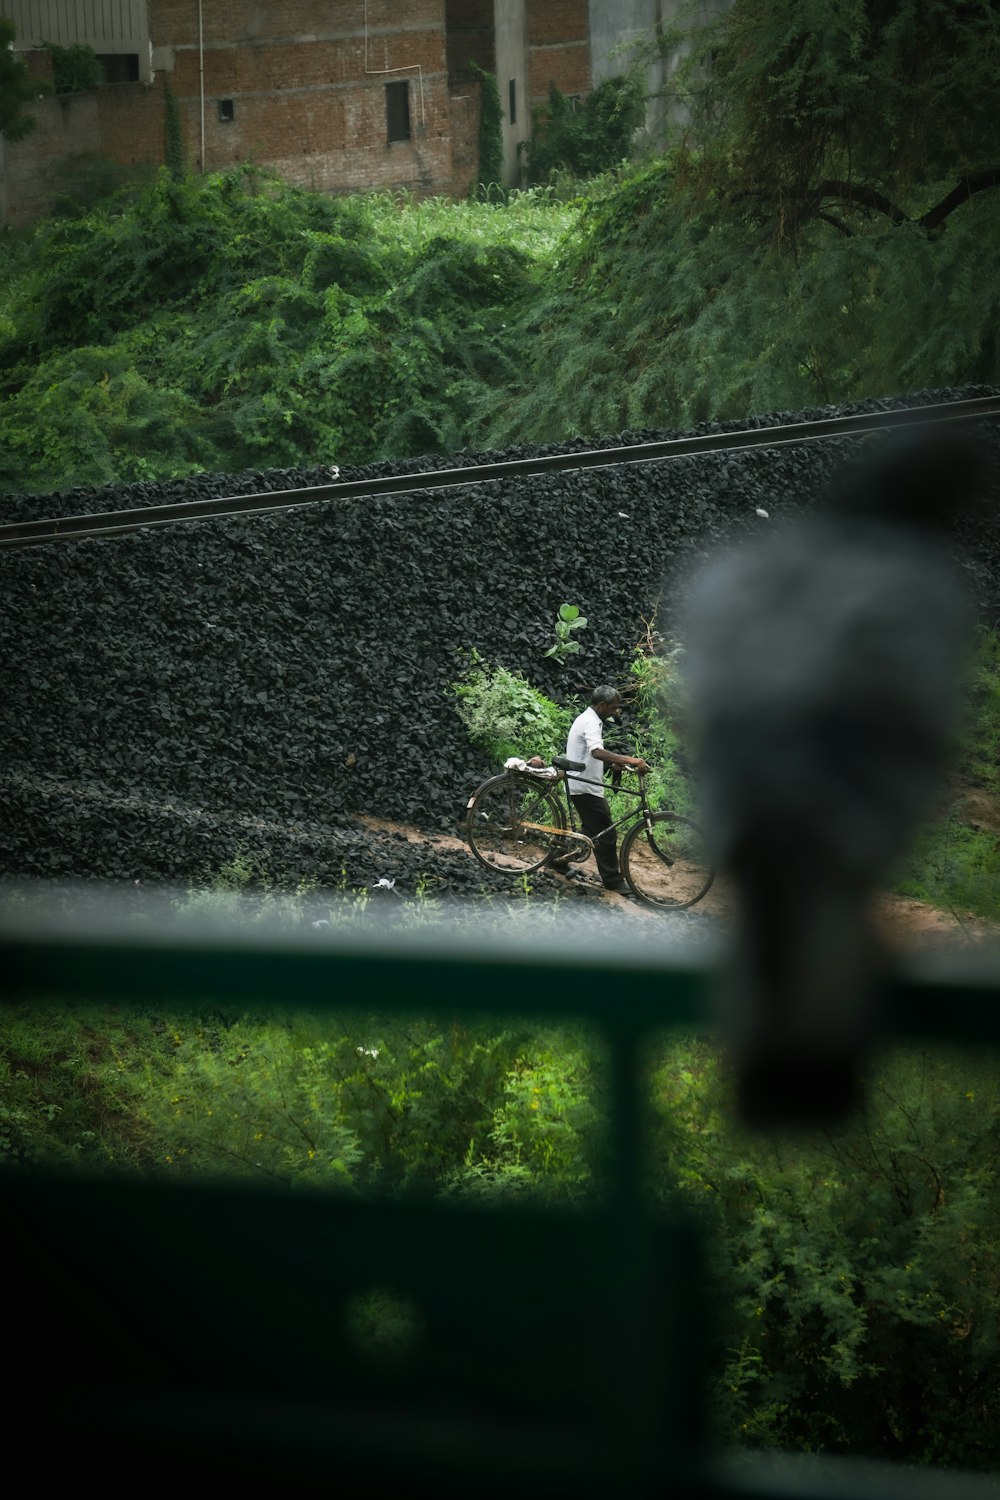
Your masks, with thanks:
[{"label": "rear bicycle wheel under the loaded carrier, behind the man", "polygon": [[465,831],[480,864],[505,874],[540,870],[564,844],[565,814],[547,786],[498,776],[469,798]]}]

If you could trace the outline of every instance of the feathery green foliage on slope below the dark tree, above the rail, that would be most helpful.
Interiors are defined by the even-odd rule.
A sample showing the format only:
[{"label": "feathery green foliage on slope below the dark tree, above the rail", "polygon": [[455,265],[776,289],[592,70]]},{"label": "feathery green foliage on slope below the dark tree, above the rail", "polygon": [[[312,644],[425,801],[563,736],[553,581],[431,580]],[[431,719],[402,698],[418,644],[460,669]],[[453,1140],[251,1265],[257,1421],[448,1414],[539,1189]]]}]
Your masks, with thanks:
[{"label": "feathery green foliage on slope below the dark tree, above the rail", "polygon": [[1000,192],[939,236],[813,219],[790,242],[675,152],[595,190],[526,309],[526,368],[480,410],[493,441],[544,442],[994,384],[997,286]]}]

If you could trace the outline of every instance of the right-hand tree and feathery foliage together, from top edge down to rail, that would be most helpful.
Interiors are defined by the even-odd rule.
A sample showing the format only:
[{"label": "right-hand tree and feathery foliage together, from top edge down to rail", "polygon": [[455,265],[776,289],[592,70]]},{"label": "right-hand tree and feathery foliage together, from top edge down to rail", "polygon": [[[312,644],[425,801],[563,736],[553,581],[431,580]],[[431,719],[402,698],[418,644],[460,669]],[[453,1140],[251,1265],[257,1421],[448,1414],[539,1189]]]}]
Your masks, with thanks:
[{"label": "right-hand tree and feathery foliage together, from top edge down to rail", "polygon": [[1000,378],[994,6],[691,4],[658,45],[666,148],[588,190],[493,440]]}]

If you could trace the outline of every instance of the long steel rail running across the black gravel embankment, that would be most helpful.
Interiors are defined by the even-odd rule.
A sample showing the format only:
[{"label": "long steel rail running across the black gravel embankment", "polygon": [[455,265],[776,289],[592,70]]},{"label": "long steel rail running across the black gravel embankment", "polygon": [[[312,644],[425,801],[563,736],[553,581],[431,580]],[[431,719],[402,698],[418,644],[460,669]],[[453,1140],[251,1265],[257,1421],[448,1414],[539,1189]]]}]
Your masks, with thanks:
[{"label": "long steel rail running across the black gravel embankment", "polygon": [[423,474],[390,474],[381,478],[312,484],[306,489],[211,496],[210,500],[177,501],[169,506],[145,506],[135,510],[106,510],[82,516],[19,520],[0,525],[0,548],[30,548],[48,542],[82,542],[93,537],[120,536],[144,526],[177,525],[184,520],[214,520],[220,516],[258,516],[267,512],[291,510],[297,506],[315,506],[328,500],[421,495],[429,490],[489,484],[508,478],[531,478],[537,474],[565,474],[586,468],[655,464],[664,459],[699,458],[706,453],[732,453],[744,448],[787,447],[798,442],[820,442],[829,438],[862,436],[868,432],[880,432],[889,428],[916,426],[921,423],[972,422],[978,417],[997,416],[1000,416],[1000,396],[978,396],[964,400],[937,402],[930,406],[861,412],[853,417],[823,417],[774,428],[753,428],[744,432],[711,432],[687,438],[664,438],[660,442],[633,442],[613,448],[585,448],[580,453],[549,453],[534,459],[508,459],[499,464],[475,464],[463,468],[432,470]]}]

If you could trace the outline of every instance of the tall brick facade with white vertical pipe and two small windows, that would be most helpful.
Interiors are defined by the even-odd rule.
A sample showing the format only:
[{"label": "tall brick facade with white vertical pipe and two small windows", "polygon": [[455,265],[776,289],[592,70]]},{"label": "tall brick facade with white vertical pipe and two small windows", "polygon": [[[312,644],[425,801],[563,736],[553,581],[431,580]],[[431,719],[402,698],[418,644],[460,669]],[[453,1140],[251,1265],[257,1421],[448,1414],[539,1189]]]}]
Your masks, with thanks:
[{"label": "tall brick facade with white vertical pipe and two small windows", "polygon": [[[193,8],[151,0],[154,48],[169,48],[189,159],[201,162]],[[219,0],[205,8],[204,168],[253,160],[319,190],[447,192],[453,164],[444,0]],[[409,81],[411,140],[387,142],[385,84]],[[220,118],[228,100],[232,118]]]}]

